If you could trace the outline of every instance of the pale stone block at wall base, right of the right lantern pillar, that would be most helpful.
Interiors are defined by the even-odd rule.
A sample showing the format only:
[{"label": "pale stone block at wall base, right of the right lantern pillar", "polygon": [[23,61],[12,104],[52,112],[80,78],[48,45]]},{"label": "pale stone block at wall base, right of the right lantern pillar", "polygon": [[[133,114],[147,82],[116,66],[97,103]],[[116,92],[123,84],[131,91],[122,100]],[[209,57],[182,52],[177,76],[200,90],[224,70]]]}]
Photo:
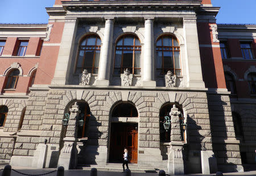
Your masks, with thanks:
[{"label": "pale stone block at wall base, right of the right lantern pillar", "polygon": [[211,150],[201,151],[201,167],[202,174],[216,173],[217,161]]}]

